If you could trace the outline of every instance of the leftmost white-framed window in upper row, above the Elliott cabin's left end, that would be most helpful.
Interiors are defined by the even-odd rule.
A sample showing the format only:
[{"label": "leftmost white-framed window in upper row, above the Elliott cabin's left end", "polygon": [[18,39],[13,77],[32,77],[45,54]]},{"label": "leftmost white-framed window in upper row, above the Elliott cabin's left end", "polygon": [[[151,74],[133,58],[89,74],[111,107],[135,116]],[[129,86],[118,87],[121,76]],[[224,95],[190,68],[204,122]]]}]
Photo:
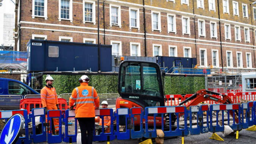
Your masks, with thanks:
[{"label": "leftmost white-framed window in upper row, above the Elliott cabin's left end", "polygon": [[32,19],[35,17],[47,20],[47,0],[32,0]]}]

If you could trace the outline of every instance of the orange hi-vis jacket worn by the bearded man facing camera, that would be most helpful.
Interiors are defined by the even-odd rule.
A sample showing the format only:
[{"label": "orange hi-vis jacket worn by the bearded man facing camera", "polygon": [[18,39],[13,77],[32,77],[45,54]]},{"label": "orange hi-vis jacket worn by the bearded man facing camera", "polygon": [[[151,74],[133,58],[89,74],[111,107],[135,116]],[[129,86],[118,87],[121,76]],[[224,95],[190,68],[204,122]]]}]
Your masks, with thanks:
[{"label": "orange hi-vis jacket worn by the bearded man facing camera", "polygon": [[41,89],[41,101],[43,108],[46,106],[56,106],[59,104],[57,93],[53,86],[50,88],[48,86],[44,86],[44,88]]}]

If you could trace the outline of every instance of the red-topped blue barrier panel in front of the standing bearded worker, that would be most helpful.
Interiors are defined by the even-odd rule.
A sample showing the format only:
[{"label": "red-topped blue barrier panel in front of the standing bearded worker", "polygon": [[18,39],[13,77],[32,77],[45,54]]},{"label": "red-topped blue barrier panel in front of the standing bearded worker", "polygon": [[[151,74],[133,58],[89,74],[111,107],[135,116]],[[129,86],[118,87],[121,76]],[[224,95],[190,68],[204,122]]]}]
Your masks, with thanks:
[{"label": "red-topped blue barrier panel in front of the standing bearded worker", "polygon": [[[59,135],[52,135],[52,118],[59,118]],[[50,133],[47,133],[47,142],[49,144],[60,143],[62,142],[62,131],[61,131],[61,123],[62,123],[62,114],[61,110],[49,110],[47,111],[47,121],[50,121]]]}]

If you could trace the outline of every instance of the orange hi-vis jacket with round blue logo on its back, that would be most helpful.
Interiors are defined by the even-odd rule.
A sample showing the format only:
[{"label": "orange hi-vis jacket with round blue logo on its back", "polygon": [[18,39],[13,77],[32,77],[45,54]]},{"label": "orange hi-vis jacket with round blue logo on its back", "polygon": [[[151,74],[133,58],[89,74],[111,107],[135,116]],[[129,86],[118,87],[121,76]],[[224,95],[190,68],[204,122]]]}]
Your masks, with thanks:
[{"label": "orange hi-vis jacket with round blue logo on its back", "polygon": [[94,109],[99,109],[99,97],[97,91],[88,86],[88,83],[81,83],[72,91],[69,106],[74,105],[75,101],[77,101],[75,117],[95,117]]}]

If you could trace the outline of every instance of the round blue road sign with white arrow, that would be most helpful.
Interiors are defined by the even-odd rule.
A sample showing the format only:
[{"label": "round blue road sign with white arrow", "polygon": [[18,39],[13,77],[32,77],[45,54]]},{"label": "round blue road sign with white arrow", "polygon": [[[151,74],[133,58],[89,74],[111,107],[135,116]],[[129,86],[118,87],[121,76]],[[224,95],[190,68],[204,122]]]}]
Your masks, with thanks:
[{"label": "round blue road sign with white arrow", "polygon": [[20,137],[24,121],[21,114],[11,116],[0,134],[0,144],[15,144]]}]

